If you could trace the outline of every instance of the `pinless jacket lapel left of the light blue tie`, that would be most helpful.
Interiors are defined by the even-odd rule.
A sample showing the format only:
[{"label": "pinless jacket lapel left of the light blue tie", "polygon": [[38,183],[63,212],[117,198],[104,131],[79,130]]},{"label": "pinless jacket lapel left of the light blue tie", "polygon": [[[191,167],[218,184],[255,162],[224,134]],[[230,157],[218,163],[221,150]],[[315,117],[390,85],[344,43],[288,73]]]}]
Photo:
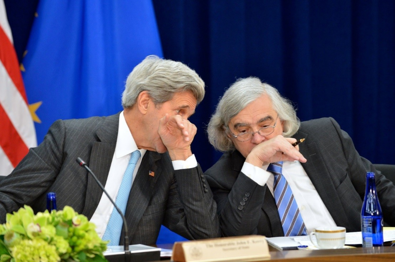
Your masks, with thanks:
[{"label": "pinless jacket lapel left of the light blue tie", "polygon": [[[99,141],[93,143],[90,153],[88,165],[103,186],[107,182],[108,172],[115,152],[118,125],[119,113],[105,118],[102,127],[96,132]],[[90,174],[88,174],[87,181],[87,194],[83,214],[90,219],[94,211],[96,211],[100,198],[103,195],[103,190]]]}]

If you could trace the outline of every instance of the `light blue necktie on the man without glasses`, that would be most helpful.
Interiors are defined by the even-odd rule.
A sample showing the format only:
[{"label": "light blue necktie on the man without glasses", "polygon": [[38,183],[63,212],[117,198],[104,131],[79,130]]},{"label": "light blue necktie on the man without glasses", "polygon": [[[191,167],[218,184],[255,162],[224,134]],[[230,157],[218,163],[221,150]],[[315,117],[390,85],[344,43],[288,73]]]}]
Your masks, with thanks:
[{"label": "light blue necktie on the man without glasses", "polygon": [[[117,204],[123,214],[125,214],[126,203],[128,202],[130,189],[132,188],[134,168],[136,167],[136,163],[139,160],[140,155],[141,154],[139,150],[132,152],[128,167],[126,167],[121,185],[119,187],[117,199],[115,200],[115,204]],[[114,207],[102,238],[103,240],[110,240],[107,245],[119,245],[122,224],[122,217],[119,215],[117,209]]]}]

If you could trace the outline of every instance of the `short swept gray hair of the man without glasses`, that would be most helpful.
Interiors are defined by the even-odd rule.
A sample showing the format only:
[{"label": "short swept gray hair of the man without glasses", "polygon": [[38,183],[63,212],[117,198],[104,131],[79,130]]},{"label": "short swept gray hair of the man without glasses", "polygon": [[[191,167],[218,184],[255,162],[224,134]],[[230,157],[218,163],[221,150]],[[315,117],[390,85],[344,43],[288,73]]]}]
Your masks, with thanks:
[{"label": "short swept gray hair of the man without glasses", "polygon": [[173,98],[177,92],[191,91],[198,104],[203,100],[205,84],[199,75],[181,62],[147,56],[126,79],[122,107],[133,107],[137,96],[147,91],[155,105]]}]

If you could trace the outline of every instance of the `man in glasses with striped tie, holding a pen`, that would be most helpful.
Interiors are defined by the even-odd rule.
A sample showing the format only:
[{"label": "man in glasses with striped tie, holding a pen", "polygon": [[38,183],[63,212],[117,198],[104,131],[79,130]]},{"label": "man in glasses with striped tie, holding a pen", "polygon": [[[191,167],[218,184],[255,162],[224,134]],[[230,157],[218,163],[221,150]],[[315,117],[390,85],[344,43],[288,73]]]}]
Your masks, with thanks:
[{"label": "man in glasses with striped tie, holding a pen", "polygon": [[226,90],[207,133],[225,152],[205,172],[223,236],[300,236],[318,226],[361,231],[366,172],[376,173],[384,221],[395,225],[393,183],[358,154],[339,124],[300,123],[290,101],[256,77]]}]

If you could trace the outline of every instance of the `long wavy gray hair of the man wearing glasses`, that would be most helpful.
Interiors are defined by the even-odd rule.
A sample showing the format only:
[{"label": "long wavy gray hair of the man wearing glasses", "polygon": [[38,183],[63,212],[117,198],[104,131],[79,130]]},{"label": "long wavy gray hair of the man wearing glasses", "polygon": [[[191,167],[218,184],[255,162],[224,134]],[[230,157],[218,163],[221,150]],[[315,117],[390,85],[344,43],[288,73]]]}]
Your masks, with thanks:
[{"label": "long wavy gray hair of the man wearing glasses", "polygon": [[229,121],[248,104],[255,101],[261,95],[267,94],[273,103],[273,108],[278,113],[278,118],[284,121],[284,137],[292,137],[300,126],[300,120],[296,116],[292,102],[278,93],[273,86],[262,83],[258,77],[237,79],[224,93],[214,114],[207,126],[207,135],[210,144],[221,152],[233,151],[235,146],[228,137],[230,132]]}]

